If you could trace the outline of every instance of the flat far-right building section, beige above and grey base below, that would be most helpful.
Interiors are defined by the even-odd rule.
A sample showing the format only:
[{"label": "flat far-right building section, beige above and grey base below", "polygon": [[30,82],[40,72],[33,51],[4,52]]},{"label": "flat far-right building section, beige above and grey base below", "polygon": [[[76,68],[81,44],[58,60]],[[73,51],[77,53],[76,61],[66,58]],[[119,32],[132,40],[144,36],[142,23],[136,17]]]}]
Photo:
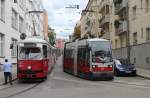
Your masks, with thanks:
[{"label": "flat far-right building section, beige above and grey base below", "polygon": [[150,69],[150,0],[129,1],[131,60]]}]

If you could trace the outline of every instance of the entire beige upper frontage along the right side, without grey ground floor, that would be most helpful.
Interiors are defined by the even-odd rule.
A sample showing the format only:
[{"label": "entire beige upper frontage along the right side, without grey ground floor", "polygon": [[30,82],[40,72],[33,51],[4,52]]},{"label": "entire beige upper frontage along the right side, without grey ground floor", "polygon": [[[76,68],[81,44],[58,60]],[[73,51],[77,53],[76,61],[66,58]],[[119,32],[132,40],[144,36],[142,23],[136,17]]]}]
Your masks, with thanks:
[{"label": "entire beige upper frontage along the right side, without grey ground floor", "polygon": [[110,39],[113,49],[127,47],[128,41],[130,45],[149,42],[150,1],[120,1],[114,5],[113,0],[89,0],[85,12],[82,12],[81,37],[91,34]]}]

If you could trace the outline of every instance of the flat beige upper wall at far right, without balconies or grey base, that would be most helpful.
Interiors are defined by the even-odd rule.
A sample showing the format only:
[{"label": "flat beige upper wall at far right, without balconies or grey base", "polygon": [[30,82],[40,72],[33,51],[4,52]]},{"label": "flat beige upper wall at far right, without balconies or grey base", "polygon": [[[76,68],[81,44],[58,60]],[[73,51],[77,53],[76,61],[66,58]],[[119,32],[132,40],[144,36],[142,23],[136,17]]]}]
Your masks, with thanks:
[{"label": "flat beige upper wall at far right, without balconies or grey base", "polygon": [[150,0],[129,1],[130,44],[150,41]]}]

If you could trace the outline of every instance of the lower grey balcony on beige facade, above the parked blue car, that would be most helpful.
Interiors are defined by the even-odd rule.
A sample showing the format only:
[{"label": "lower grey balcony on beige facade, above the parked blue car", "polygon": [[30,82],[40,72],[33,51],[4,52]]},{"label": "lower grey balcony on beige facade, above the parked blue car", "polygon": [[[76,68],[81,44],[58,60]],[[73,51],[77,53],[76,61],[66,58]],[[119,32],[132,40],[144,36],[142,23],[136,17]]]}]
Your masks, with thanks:
[{"label": "lower grey balcony on beige facade, above the parked blue car", "polygon": [[127,32],[127,21],[122,21],[119,25],[119,28],[117,29],[117,35],[121,35],[124,32]]}]

